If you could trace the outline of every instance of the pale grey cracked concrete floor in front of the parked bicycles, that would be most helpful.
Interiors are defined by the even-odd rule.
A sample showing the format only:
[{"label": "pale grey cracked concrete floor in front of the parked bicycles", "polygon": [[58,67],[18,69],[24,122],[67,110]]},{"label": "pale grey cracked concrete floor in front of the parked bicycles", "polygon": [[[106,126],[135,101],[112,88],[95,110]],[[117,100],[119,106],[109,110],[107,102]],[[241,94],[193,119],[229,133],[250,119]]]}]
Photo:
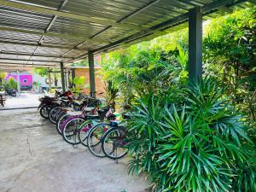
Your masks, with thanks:
[{"label": "pale grey cracked concrete floor in front of the parked bicycles", "polygon": [[0,111],[1,192],[139,192],[144,177],[127,174],[127,160],[96,158],[65,143],[35,109]]}]

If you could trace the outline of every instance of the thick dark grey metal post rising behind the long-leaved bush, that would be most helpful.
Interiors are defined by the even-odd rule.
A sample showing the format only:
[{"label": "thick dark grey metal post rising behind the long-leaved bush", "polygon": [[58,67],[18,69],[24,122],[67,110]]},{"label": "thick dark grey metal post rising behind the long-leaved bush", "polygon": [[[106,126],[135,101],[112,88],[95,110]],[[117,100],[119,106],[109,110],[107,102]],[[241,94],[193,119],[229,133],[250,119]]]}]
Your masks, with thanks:
[{"label": "thick dark grey metal post rising behind the long-leaved bush", "polygon": [[202,76],[202,11],[189,10],[189,82],[196,83]]}]

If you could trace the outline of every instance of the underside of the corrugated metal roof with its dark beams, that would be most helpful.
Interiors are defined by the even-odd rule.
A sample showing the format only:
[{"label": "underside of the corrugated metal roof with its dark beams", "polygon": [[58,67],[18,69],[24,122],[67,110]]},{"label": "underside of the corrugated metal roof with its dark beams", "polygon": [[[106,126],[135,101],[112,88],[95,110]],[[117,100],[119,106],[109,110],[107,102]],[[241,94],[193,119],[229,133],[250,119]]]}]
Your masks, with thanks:
[{"label": "underside of the corrugated metal roof with its dark beams", "polygon": [[0,0],[0,65],[59,67],[87,51],[127,47],[187,25],[189,9],[204,19],[254,0]]}]

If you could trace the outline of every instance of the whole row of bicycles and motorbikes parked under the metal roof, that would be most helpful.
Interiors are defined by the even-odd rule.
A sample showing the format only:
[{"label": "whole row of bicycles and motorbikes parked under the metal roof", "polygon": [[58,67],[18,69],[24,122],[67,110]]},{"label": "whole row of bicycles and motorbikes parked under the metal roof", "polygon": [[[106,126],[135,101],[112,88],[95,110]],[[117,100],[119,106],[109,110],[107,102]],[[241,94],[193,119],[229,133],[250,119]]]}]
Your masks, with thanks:
[{"label": "whole row of bicycles and motorbikes parked under the metal roof", "polygon": [[[127,154],[125,121],[127,114],[114,113],[103,100],[90,96],[73,96],[73,92],[55,91],[44,96],[38,109],[45,119],[55,124],[63,139],[72,145],[81,143],[97,157],[117,160]],[[123,119],[123,121],[117,120]]]}]

